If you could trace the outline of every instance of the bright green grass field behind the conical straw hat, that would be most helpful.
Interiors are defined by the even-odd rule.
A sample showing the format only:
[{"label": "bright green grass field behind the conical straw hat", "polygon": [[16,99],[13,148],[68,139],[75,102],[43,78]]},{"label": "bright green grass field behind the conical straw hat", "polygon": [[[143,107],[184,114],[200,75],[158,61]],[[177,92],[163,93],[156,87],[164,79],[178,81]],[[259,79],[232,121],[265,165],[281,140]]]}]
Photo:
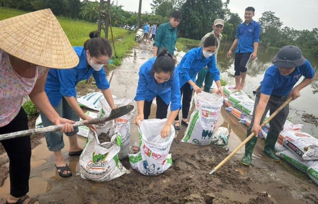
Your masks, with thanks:
[{"label": "bright green grass field behind the conical straw hat", "polygon": [[[0,20],[11,18],[14,16],[25,14],[26,12],[0,7]],[[72,46],[83,46],[84,42],[89,39],[91,31],[97,30],[97,23],[89,23],[82,20],[71,20],[67,18],[57,17],[64,32],[68,36],[68,40]],[[102,31],[102,37],[105,37]],[[136,45],[134,41],[135,33],[126,29],[113,27],[114,44],[116,56],[113,55],[114,65],[121,64],[122,59],[130,52],[131,48]],[[109,28],[108,39],[112,41],[111,29]],[[121,40],[121,41],[118,41]],[[114,54],[114,50],[113,50]]]}]

